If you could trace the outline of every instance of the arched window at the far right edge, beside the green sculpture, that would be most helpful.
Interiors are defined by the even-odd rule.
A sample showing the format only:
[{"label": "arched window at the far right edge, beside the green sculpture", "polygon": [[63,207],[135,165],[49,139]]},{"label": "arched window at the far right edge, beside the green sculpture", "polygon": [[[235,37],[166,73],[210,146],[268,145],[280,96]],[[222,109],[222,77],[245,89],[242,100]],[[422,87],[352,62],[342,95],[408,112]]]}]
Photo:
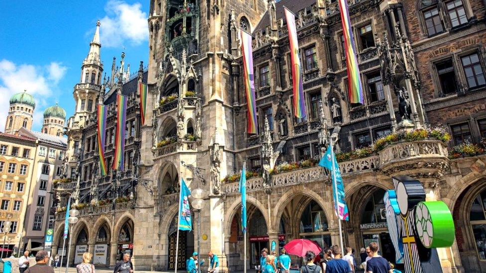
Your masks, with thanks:
[{"label": "arched window at the far right edge, beside the green sculpture", "polygon": [[486,190],[474,198],[469,213],[480,260],[486,260]]}]

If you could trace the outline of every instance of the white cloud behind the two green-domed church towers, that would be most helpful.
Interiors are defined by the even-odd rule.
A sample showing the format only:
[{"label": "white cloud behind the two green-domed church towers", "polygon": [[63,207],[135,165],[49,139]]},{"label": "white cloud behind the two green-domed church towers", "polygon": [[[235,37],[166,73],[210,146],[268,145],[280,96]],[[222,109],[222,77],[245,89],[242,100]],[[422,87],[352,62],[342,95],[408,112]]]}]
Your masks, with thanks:
[{"label": "white cloud behind the two green-domed church towers", "polygon": [[0,60],[0,129],[3,131],[8,114],[9,98],[18,92],[27,90],[35,98],[34,125],[42,123],[43,109],[48,105],[53,90],[61,80],[67,68],[52,62],[38,67],[29,64],[17,65],[8,60]]}]

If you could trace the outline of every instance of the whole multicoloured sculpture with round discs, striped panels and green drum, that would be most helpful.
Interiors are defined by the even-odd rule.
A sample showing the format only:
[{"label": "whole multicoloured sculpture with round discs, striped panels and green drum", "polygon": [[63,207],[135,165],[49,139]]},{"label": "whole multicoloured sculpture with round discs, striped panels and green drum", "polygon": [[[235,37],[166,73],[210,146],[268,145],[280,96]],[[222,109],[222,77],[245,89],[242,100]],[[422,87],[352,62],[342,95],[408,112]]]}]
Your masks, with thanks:
[{"label": "whole multicoloured sculpture with round discs, striped panels and green drum", "polygon": [[405,273],[441,273],[436,248],[450,247],[455,228],[452,214],[442,201],[425,201],[420,181],[393,177],[394,190],[383,197],[386,222],[396,252],[396,263]]}]

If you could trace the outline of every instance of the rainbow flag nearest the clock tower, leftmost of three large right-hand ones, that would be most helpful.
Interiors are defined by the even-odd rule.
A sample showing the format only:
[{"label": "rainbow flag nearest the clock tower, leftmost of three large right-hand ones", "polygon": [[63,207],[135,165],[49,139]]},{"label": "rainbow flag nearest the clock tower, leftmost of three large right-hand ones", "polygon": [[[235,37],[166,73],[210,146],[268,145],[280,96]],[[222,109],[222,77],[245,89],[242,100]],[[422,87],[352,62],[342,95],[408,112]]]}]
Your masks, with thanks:
[{"label": "rainbow flag nearest the clock tower, leftmost of three large right-hand ones", "polygon": [[246,105],[248,107],[248,133],[257,133],[255,75],[253,74],[253,49],[251,48],[251,34],[240,30],[243,54],[243,79],[246,91]]}]

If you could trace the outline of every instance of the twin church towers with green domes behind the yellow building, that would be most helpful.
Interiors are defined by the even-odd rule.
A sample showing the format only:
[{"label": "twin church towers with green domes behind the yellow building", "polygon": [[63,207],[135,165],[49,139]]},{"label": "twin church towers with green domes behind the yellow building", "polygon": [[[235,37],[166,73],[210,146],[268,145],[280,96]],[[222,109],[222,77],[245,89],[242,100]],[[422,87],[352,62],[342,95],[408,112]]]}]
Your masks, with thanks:
[{"label": "twin church towers with green domes behind the yellow building", "polygon": [[[15,134],[22,127],[31,130],[32,118],[35,110],[34,97],[23,91],[14,94],[10,98],[10,107],[5,122],[5,133]],[[44,111],[44,124],[42,133],[62,136],[64,132],[64,122],[66,121],[66,111],[57,103],[47,107]]]}]

